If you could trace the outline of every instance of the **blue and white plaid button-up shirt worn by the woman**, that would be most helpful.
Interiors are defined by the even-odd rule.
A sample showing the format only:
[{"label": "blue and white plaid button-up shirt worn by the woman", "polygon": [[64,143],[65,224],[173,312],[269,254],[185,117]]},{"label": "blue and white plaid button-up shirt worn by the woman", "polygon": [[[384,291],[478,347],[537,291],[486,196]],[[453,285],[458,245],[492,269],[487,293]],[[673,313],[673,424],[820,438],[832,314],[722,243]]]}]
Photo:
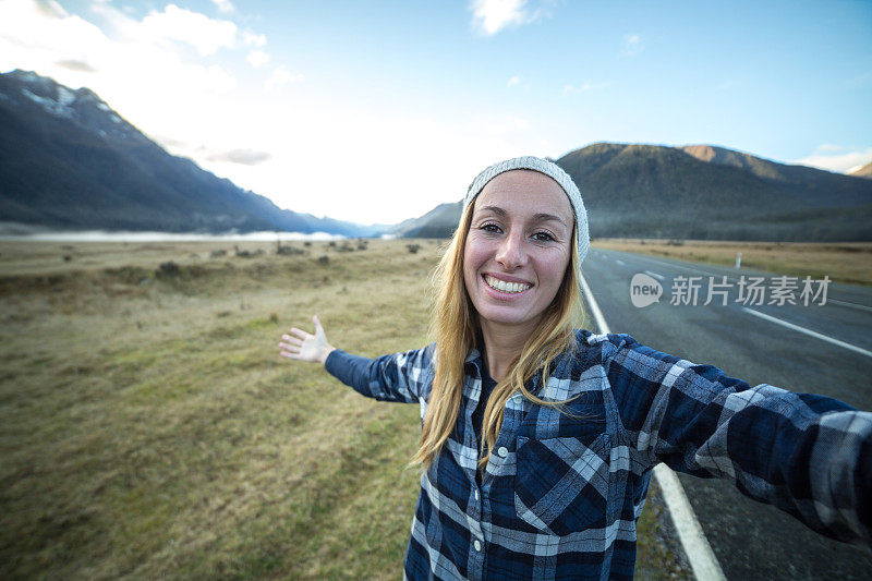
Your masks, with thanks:
[{"label": "blue and white plaid button-up shirt worn by the woman", "polygon": [[[725,477],[807,525],[870,541],[872,413],[839,401],[727,377],[627,335],[578,331],[544,389],[570,414],[509,398],[475,481],[482,360],[465,362],[461,412],[422,474],[407,579],[630,579],[635,522],[658,462]],[[327,370],[361,394],[417,402],[433,384],[434,346],[375,360],[335,351]]]}]

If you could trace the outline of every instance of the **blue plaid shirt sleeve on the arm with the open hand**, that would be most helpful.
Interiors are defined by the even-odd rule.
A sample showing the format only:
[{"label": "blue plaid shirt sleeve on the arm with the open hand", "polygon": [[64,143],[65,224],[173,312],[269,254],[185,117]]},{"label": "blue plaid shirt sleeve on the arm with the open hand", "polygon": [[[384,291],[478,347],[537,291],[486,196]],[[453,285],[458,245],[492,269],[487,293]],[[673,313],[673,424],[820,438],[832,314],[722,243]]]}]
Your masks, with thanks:
[{"label": "blue plaid shirt sleeve on the arm with the open hand", "polygon": [[376,359],[334,350],[324,366],[355,391],[379,401],[420,403],[433,385],[434,344]]}]

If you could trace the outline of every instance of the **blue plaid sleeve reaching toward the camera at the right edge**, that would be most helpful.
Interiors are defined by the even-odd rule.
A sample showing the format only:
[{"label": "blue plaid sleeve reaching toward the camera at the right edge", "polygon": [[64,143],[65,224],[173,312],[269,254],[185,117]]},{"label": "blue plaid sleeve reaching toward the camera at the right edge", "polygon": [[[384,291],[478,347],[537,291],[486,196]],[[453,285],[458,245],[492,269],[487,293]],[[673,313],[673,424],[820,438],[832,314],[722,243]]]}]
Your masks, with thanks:
[{"label": "blue plaid sleeve reaching toward the camera at the right edge", "polygon": [[872,413],[747,383],[629,336],[608,336],[609,384],[628,444],[653,464],[732,480],[811,529],[872,542]]}]

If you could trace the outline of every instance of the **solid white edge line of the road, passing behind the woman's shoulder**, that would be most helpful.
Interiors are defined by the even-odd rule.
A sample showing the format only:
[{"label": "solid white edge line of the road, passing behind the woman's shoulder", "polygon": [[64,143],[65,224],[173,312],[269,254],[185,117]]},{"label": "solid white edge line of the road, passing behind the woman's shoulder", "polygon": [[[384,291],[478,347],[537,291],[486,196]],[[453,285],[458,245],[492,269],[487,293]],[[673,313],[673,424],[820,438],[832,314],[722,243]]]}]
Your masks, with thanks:
[{"label": "solid white edge line of the road, passing behind the woman's shoulder", "polygon": [[[600,311],[600,305],[596,304],[596,299],[594,299],[591,288],[588,286],[588,281],[582,275],[579,275],[579,278],[600,332],[611,332],[603,312]],[[708,540],[705,538],[705,533],[702,532],[700,521],[697,520],[697,515],[693,513],[693,508],[690,506],[678,476],[675,475],[675,472],[669,467],[661,463],[654,467],[654,477],[657,480],[661,491],[663,491],[666,509],[673,517],[673,523],[678,532],[681,547],[685,549],[688,561],[690,561],[690,568],[693,569],[693,576],[705,581],[710,579],[726,581],[727,578],[724,576],[724,570],[720,568],[720,564],[717,562],[717,557],[715,557]]]}]

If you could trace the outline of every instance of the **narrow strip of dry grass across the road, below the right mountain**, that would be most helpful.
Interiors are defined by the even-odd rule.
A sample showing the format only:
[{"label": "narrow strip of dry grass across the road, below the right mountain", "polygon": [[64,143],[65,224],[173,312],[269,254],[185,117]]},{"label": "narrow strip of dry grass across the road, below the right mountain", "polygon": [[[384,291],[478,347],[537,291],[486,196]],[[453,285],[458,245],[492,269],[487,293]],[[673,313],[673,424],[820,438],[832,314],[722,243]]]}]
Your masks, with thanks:
[{"label": "narrow strip of dry grass across the road, below the right mountain", "polygon": [[741,265],[799,277],[872,286],[872,243],[720,242],[708,240],[601,239],[597,249],[668,256],[679,261],[732,266],[742,253]]}]

